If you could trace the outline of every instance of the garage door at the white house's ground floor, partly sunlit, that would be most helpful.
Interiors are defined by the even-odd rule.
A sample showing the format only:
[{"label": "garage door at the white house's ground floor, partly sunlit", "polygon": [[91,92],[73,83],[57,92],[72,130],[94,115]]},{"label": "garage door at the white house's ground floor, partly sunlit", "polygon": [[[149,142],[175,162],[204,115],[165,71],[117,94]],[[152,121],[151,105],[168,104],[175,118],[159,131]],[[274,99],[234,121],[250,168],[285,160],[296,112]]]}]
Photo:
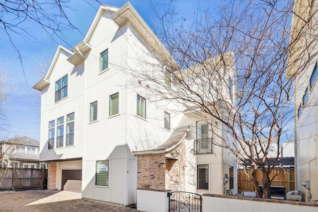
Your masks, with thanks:
[{"label": "garage door at the white house's ground floor, partly sunlit", "polygon": [[81,192],[81,169],[62,170],[62,190]]}]

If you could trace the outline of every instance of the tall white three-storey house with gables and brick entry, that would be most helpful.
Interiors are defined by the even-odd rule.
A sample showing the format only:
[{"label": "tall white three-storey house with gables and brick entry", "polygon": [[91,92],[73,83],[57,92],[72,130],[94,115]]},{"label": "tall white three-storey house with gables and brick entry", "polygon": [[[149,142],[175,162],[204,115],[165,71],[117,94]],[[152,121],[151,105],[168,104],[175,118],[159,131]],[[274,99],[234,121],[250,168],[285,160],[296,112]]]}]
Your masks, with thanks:
[{"label": "tall white three-storey house with gables and brick entry", "polygon": [[[49,190],[71,182],[83,199],[125,206],[136,204],[137,188],[237,194],[236,157],[221,147],[220,137],[231,139],[222,124],[151,102],[142,82],[132,83],[134,71],[166,69],[164,57],[169,53],[129,2],[101,5],[72,51],[58,47],[33,86],[42,93],[40,160],[49,161]],[[159,77],[168,84],[167,75]]]}]

